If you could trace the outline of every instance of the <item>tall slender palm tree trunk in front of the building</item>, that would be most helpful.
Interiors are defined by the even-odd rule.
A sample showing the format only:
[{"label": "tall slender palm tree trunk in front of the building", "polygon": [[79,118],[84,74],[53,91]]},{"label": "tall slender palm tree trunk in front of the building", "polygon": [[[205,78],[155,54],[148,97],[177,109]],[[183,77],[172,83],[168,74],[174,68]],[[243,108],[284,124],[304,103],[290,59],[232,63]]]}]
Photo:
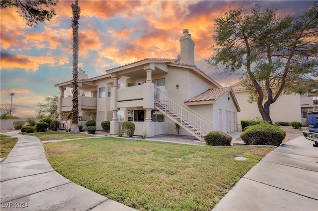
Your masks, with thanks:
[{"label": "tall slender palm tree trunk in front of the building", "polygon": [[79,93],[78,93],[78,62],[79,62],[79,0],[72,3],[72,29],[73,29],[73,107],[71,133],[79,133]]}]

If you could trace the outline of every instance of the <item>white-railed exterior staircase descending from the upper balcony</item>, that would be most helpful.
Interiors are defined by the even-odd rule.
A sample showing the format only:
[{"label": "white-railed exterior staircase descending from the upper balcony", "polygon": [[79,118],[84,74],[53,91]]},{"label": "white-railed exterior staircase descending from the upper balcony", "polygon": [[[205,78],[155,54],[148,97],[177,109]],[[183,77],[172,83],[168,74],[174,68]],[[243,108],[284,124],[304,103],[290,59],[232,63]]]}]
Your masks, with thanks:
[{"label": "white-railed exterior staircase descending from the upper balcony", "polygon": [[204,141],[204,136],[213,130],[213,122],[159,89],[155,90],[155,107],[200,141]]}]

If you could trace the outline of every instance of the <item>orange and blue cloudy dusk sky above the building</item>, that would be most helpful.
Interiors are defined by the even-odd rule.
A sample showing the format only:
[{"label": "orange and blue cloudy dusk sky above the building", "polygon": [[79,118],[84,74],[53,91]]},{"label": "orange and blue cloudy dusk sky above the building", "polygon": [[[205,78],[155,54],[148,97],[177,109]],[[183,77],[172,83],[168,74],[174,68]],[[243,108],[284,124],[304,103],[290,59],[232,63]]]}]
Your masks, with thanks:
[{"label": "orange and blue cloudy dusk sky above the building", "polygon": [[[0,10],[1,105],[13,113],[35,117],[37,104],[59,95],[54,85],[72,80],[73,1],[60,0],[56,16],[35,28],[25,24],[15,8]],[[315,1],[262,1],[282,15],[300,15]],[[144,58],[176,58],[179,38],[187,28],[195,42],[195,64],[222,86],[239,80],[205,61],[213,54],[214,19],[229,8],[253,6],[255,1],[170,0],[107,1],[79,0],[79,68],[95,77],[105,70]]]}]

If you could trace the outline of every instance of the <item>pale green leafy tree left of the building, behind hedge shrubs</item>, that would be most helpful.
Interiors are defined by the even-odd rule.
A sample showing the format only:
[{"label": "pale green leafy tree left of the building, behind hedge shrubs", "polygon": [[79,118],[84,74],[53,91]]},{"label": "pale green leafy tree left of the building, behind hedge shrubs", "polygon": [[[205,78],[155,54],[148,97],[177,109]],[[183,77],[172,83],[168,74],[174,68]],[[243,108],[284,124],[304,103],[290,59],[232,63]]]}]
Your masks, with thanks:
[{"label": "pale green leafy tree left of the building, behind hedge shrubs", "polygon": [[45,103],[38,103],[38,108],[36,111],[38,112],[37,118],[43,118],[45,116],[52,116],[54,112],[58,109],[58,99],[57,95],[53,95],[52,97],[46,97]]}]

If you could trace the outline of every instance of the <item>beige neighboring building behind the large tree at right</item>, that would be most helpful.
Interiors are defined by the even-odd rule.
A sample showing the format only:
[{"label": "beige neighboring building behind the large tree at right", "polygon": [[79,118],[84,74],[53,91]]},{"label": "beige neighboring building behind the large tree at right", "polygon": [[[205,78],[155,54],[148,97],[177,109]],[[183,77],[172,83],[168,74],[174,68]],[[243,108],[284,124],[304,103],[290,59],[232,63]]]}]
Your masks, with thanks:
[{"label": "beige neighboring building behind the large tree at right", "polygon": [[[255,119],[256,117],[261,118],[257,103],[254,102],[250,104],[247,102],[248,93],[240,83],[241,82],[238,82],[231,86],[241,107],[241,111],[238,114],[239,126],[241,120]],[[304,95],[291,94],[279,96],[277,101],[270,105],[270,117],[272,122],[299,121],[302,122],[303,125],[307,125],[307,112],[314,108],[314,97],[318,97],[318,94],[306,93]],[[266,100],[264,100],[264,103],[265,101]]]}]

